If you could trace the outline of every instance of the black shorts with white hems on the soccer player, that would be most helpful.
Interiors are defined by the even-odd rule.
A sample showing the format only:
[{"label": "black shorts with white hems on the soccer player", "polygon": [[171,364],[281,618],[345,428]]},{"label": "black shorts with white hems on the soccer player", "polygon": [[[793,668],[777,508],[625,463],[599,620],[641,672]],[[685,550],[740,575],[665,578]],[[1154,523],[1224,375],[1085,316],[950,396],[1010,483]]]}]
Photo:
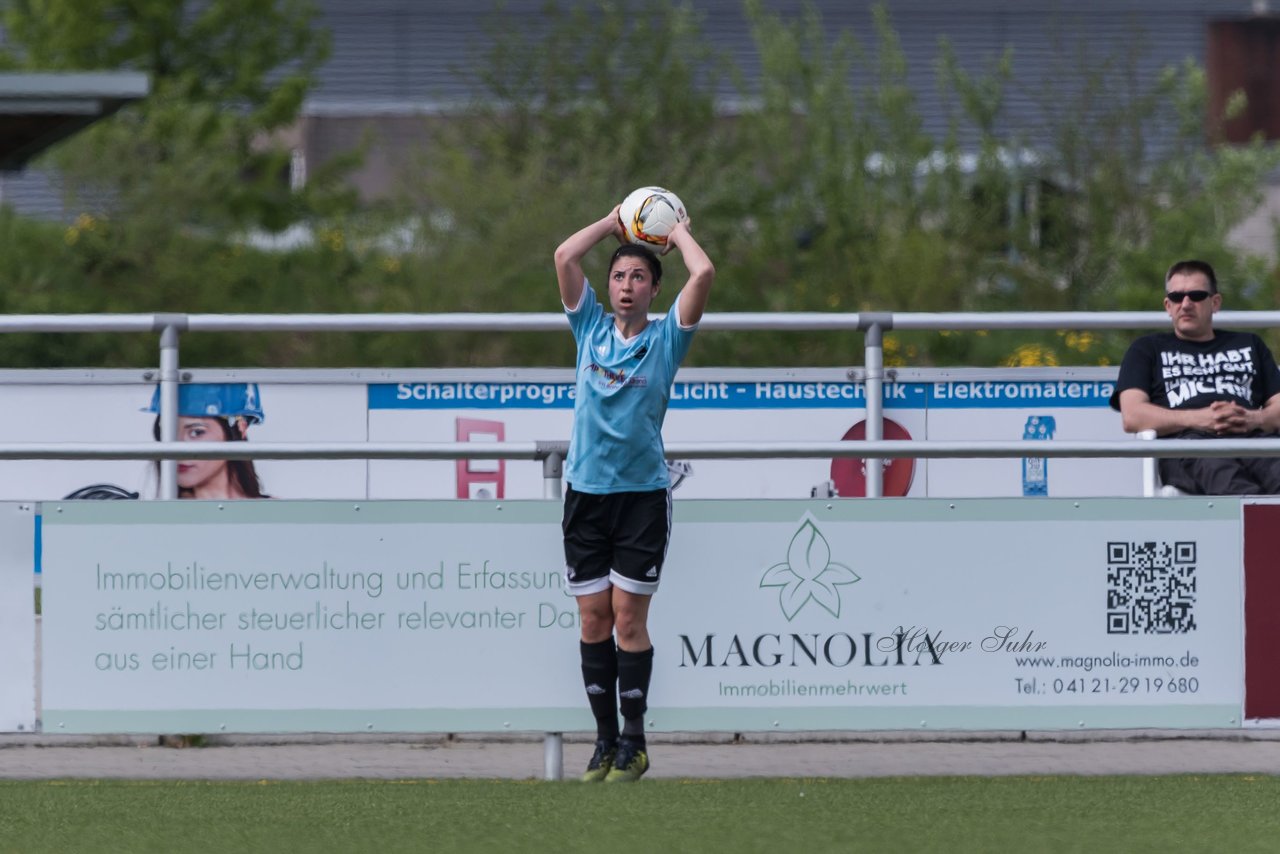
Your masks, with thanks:
[{"label": "black shorts with white hems on the soccer player", "polygon": [[671,543],[671,490],[564,492],[564,579],[586,595],[617,585],[653,595]]}]

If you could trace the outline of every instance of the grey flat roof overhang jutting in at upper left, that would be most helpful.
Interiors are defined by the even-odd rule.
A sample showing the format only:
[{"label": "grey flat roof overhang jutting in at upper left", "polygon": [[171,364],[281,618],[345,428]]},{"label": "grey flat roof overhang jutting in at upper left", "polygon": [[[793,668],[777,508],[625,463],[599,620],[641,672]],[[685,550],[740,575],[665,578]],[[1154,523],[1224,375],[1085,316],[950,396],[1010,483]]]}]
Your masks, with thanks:
[{"label": "grey flat roof overhang jutting in at upper left", "polygon": [[148,90],[147,76],[137,72],[0,73],[0,170],[22,169]]}]

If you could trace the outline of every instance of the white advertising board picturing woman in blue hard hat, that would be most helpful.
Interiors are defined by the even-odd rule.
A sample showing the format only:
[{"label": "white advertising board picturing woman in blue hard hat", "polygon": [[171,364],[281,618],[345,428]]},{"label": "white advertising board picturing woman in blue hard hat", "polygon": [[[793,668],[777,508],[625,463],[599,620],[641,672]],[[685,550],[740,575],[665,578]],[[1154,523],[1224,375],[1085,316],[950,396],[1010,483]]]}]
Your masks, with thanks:
[{"label": "white advertising board picturing woman in blue hard hat", "polygon": [[[95,371],[92,376],[84,371],[56,373],[65,376],[50,378],[44,371],[40,382],[0,383],[5,407],[22,412],[22,417],[0,419],[0,443],[141,448],[159,439],[159,416],[151,405],[157,399],[155,382],[143,382],[138,371]],[[183,383],[179,403],[184,388],[192,391],[187,392],[189,414],[179,415],[179,442],[369,440],[364,383]],[[229,408],[219,408],[219,393],[233,402]],[[324,417],[319,417],[320,412]],[[229,458],[178,461],[177,467],[180,498],[369,497],[365,460]],[[141,457],[0,461],[0,501],[154,499],[157,494],[157,465]]]}]

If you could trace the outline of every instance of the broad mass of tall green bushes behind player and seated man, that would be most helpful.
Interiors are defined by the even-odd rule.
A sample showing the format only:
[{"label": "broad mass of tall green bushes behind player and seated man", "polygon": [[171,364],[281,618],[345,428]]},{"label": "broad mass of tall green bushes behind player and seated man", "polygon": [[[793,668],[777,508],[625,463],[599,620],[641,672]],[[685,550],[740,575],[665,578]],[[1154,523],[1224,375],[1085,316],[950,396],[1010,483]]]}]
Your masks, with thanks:
[{"label": "broad mass of tall green bushes behind player and seated man", "polygon": [[[493,51],[474,64],[480,97],[433,140],[413,209],[433,269],[493,284],[472,291],[475,305],[493,296],[554,310],[548,250],[640,183],[690,205],[719,269],[714,311],[1134,309],[1153,305],[1160,271],[1192,254],[1260,292],[1266,262],[1228,234],[1280,160],[1261,143],[1206,145],[1194,65],[1147,79],[1140,47],[1064,49],[1046,81],[1019,81],[1010,51],[964,68],[941,40],[951,111],[931,133],[884,8],[869,33],[832,32],[813,6],[783,15],[746,0],[750,85],[699,47],[690,8],[652,10],[552,4],[535,33],[497,19]],[[652,61],[618,44],[644,45]],[[721,73],[707,82],[699,68]],[[744,108],[726,108],[727,82]],[[1042,92],[1034,141],[1006,129],[1015,87]],[[901,364],[1106,364],[1126,339],[1064,330],[888,344]],[[859,360],[860,339],[718,334],[692,357],[841,364]]]}]

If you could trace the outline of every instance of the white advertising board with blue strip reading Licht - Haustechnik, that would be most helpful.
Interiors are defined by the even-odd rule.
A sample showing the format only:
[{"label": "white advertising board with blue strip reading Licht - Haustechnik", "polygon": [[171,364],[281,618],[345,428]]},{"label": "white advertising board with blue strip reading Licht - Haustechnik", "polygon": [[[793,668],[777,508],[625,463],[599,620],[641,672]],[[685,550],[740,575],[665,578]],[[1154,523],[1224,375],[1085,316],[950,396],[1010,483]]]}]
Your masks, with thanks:
[{"label": "white advertising board with blue strip reading Licht - Haustechnik", "polygon": [[[832,442],[864,437],[864,385],[845,371],[692,369],[672,389],[663,438],[673,442]],[[923,373],[916,373],[922,374]],[[916,440],[1028,439],[1012,460],[895,460],[887,497],[1139,495],[1138,460],[1048,460],[1041,440],[1124,439],[1107,401],[1107,371],[947,371],[915,380],[899,371],[884,385],[884,438]],[[687,378],[687,379],[686,379]],[[539,382],[449,379],[369,385],[370,439],[508,442],[563,439],[572,425],[571,376]],[[828,480],[838,494],[861,495],[860,460],[689,461],[677,498],[803,498]],[[374,498],[538,498],[536,463],[370,463]]]}]

